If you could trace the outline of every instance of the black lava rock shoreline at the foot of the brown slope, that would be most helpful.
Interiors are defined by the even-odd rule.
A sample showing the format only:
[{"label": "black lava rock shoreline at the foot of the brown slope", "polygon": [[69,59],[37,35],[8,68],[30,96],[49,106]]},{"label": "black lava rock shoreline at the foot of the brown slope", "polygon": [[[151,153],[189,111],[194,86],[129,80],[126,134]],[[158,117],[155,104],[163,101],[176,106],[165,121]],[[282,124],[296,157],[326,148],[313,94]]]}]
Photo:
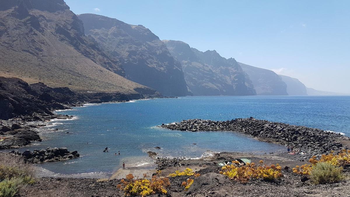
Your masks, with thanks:
[{"label": "black lava rock shoreline at the foot of the brown slope", "polygon": [[69,88],[52,88],[43,83],[28,84],[18,78],[0,77],[0,120],[30,117],[41,121],[42,115],[54,115],[56,109],[70,109],[82,103],[128,101],[145,95],[122,93],[81,93]]}]

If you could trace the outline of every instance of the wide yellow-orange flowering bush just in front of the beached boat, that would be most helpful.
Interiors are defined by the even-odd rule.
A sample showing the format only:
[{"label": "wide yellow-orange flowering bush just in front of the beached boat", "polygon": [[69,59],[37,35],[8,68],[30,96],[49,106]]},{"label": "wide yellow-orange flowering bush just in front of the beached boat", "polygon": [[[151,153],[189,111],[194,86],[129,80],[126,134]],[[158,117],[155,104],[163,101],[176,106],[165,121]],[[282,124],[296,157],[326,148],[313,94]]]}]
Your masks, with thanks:
[{"label": "wide yellow-orange flowering bush just in front of the beached boat", "polygon": [[264,162],[260,162],[260,165],[256,166],[254,163],[247,163],[243,166],[235,165],[235,162],[231,165],[226,165],[221,168],[220,174],[226,175],[235,181],[246,183],[249,179],[265,179],[274,180],[282,177],[281,166],[276,165],[264,165]]}]

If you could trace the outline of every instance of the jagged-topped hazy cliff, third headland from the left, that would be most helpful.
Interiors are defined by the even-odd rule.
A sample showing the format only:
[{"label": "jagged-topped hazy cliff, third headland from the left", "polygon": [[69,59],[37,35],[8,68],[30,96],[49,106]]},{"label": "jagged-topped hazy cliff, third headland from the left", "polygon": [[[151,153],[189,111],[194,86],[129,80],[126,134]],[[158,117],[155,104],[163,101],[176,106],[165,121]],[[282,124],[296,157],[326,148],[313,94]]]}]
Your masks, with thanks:
[{"label": "jagged-topped hazy cliff, third headland from the left", "polygon": [[235,59],[226,60],[215,50],[201,52],[182,41],[163,42],[181,62],[187,86],[194,95],[256,94]]}]

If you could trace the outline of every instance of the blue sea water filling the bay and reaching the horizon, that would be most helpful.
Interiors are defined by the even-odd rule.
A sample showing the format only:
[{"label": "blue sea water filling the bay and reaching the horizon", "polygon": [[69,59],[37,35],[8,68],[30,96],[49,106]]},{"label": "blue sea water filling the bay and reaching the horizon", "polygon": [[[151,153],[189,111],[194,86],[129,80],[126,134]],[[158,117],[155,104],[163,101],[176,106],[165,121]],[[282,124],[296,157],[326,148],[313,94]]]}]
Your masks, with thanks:
[{"label": "blue sea water filling the bay and reaching the horizon", "polygon": [[[47,176],[110,174],[123,162],[127,167],[153,168],[147,151],[158,152],[161,157],[186,158],[221,151],[285,151],[280,145],[232,132],[185,132],[156,127],[189,118],[231,120],[252,116],[350,135],[350,96],[188,96],[85,105],[56,113],[76,118],[52,120],[38,129],[42,142],[19,149],[64,146],[80,153],[77,159],[39,164]],[[154,149],[156,146],[161,149]],[[105,147],[109,152],[103,152]],[[118,151],[121,154],[116,156]]]}]

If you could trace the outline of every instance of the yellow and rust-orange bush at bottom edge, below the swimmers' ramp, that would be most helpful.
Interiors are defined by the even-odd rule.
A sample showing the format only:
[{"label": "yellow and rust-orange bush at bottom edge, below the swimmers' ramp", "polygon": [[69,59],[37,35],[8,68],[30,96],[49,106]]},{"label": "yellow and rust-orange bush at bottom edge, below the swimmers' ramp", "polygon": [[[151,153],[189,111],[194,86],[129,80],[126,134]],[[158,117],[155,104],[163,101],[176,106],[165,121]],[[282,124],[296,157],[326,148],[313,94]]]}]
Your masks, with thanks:
[{"label": "yellow and rust-orange bush at bottom edge, below the swimmers' ramp", "polygon": [[170,186],[168,178],[158,178],[153,176],[148,179],[134,179],[132,174],[126,175],[126,179],[121,179],[117,188],[124,190],[125,196],[148,196],[152,194],[167,194],[166,188]]}]

